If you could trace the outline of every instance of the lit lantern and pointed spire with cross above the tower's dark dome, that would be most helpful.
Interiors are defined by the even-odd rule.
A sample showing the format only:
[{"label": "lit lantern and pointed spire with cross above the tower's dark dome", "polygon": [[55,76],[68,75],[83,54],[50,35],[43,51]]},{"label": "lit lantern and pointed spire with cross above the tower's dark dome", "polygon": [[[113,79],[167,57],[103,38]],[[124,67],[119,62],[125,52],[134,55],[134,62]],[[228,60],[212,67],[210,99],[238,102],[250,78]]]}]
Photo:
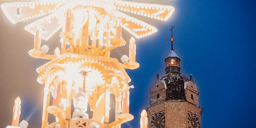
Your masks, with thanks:
[{"label": "lit lantern and pointed spire with cross above the tower's dark dome", "polygon": [[[174,27],[171,27],[170,31],[172,32]],[[170,72],[178,72],[180,73],[180,60],[181,58],[178,57],[178,55],[174,52],[173,49],[173,41],[174,37],[171,35],[171,51],[165,58],[165,74],[170,73]]]}]

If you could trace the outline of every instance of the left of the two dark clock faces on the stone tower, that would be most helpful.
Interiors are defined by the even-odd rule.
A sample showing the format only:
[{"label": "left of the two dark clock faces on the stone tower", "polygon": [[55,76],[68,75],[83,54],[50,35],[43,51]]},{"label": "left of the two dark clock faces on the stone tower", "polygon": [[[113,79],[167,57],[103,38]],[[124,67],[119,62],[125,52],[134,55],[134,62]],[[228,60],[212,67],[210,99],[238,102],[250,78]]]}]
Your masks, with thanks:
[{"label": "left of the two dark clock faces on the stone tower", "polygon": [[151,115],[151,128],[165,128],[164,111]]}]

